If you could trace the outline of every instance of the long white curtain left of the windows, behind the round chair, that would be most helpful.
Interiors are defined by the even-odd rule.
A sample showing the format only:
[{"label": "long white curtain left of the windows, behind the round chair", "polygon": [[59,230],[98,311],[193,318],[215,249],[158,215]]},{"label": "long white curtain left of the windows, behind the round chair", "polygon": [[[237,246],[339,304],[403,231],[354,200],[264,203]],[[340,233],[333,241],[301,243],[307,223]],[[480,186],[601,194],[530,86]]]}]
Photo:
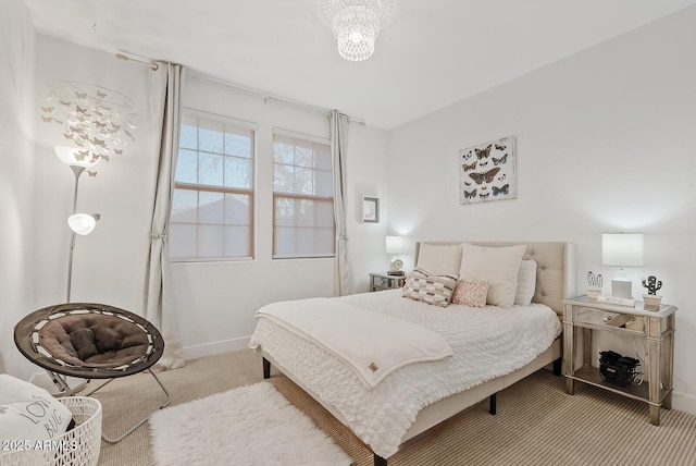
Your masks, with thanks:
[{"label": "long white curtain left of the windows, behind the round chair", "polygon": [[152,206],[150,257],[146,271],[145,317],[160,330],[164,339],[164,354],[158,363],[161,369],[184,366],[166,242],[178,151],[184,71],[184,66],[162,62],[158,62],[157,70],[150,70],[150,121],[153,134],[161,134],[161,137],[154,145],[159,163]]}]

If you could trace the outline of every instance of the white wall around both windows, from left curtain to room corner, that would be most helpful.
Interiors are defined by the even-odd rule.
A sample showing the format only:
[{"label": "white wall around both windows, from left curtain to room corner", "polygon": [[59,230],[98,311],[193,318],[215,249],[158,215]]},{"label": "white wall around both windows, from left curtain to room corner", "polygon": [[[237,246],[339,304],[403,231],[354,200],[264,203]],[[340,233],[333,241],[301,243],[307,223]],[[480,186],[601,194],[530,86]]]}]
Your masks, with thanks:
[{"label": "white wall around both windows, from left curtain to room corner", "polygon": [[[173,265],[179,323],[186,357],[246,347],[253,331],[253,314],[269,303],[310,296],[334,295],[334,259],[272,259],[273,241],[273,128],[281,127],[319,137],[330,137],[325,114],[264,100],[191,73],[187,77],[184,106],[256,125],[256,257],[224,262]],[[385,193],[386,132],[359,124],[349,125],[348,235],[355,263],[356,290],[366,291],[365,266],[382,243],[369,237],[384,234],[385,223],[358,223],[356,205],[362,194]],[[364,170],[364,171],[363,171]],[[362,193],[362,191],[365,191]],[[384,268],[377,263],[375,267]],[[371,271],[371,270],[370,270]],[[364,275],[364,277],[363,277]]]}]

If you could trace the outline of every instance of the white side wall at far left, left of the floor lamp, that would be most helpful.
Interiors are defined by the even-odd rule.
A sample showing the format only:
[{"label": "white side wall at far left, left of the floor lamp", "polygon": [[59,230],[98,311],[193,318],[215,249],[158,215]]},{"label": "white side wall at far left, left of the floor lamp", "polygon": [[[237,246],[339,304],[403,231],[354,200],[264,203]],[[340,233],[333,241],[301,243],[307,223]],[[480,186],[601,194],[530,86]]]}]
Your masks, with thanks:
[{"label": "white side wall at far left, left of the floor lamp", "polygon": [[22,0],[0,2],[0,372],[34,370],[14,346],[32,310],[36,30]]}]

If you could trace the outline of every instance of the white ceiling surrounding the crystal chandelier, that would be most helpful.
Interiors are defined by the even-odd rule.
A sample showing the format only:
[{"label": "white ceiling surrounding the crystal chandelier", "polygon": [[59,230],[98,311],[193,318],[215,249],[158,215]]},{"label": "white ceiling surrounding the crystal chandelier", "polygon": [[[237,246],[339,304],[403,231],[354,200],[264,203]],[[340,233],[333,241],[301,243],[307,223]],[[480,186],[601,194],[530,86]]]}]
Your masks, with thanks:
[{"label": "white ceiling surrounding the crystal chandelier", "polygon": [[322,0],[24,0],[39,34],[189,66],[391,128],[696,0],[391,0],[366,61]]}]

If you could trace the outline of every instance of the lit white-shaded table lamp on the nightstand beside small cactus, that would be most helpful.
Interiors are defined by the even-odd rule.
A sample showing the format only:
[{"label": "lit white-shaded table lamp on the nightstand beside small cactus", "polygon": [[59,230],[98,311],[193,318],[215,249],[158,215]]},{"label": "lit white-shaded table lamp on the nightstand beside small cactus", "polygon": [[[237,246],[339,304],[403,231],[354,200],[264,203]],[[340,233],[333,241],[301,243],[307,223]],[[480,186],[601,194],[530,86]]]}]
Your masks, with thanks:
[{"label": "lit white-shaded table lamp on the nightstand beside small cactus", "polygon": [[620,267],[619,275],[611,281],[611,296],[632,299],[632,282],[624,267],[643,267],[643,234],[602,234],[601,263]]}]

